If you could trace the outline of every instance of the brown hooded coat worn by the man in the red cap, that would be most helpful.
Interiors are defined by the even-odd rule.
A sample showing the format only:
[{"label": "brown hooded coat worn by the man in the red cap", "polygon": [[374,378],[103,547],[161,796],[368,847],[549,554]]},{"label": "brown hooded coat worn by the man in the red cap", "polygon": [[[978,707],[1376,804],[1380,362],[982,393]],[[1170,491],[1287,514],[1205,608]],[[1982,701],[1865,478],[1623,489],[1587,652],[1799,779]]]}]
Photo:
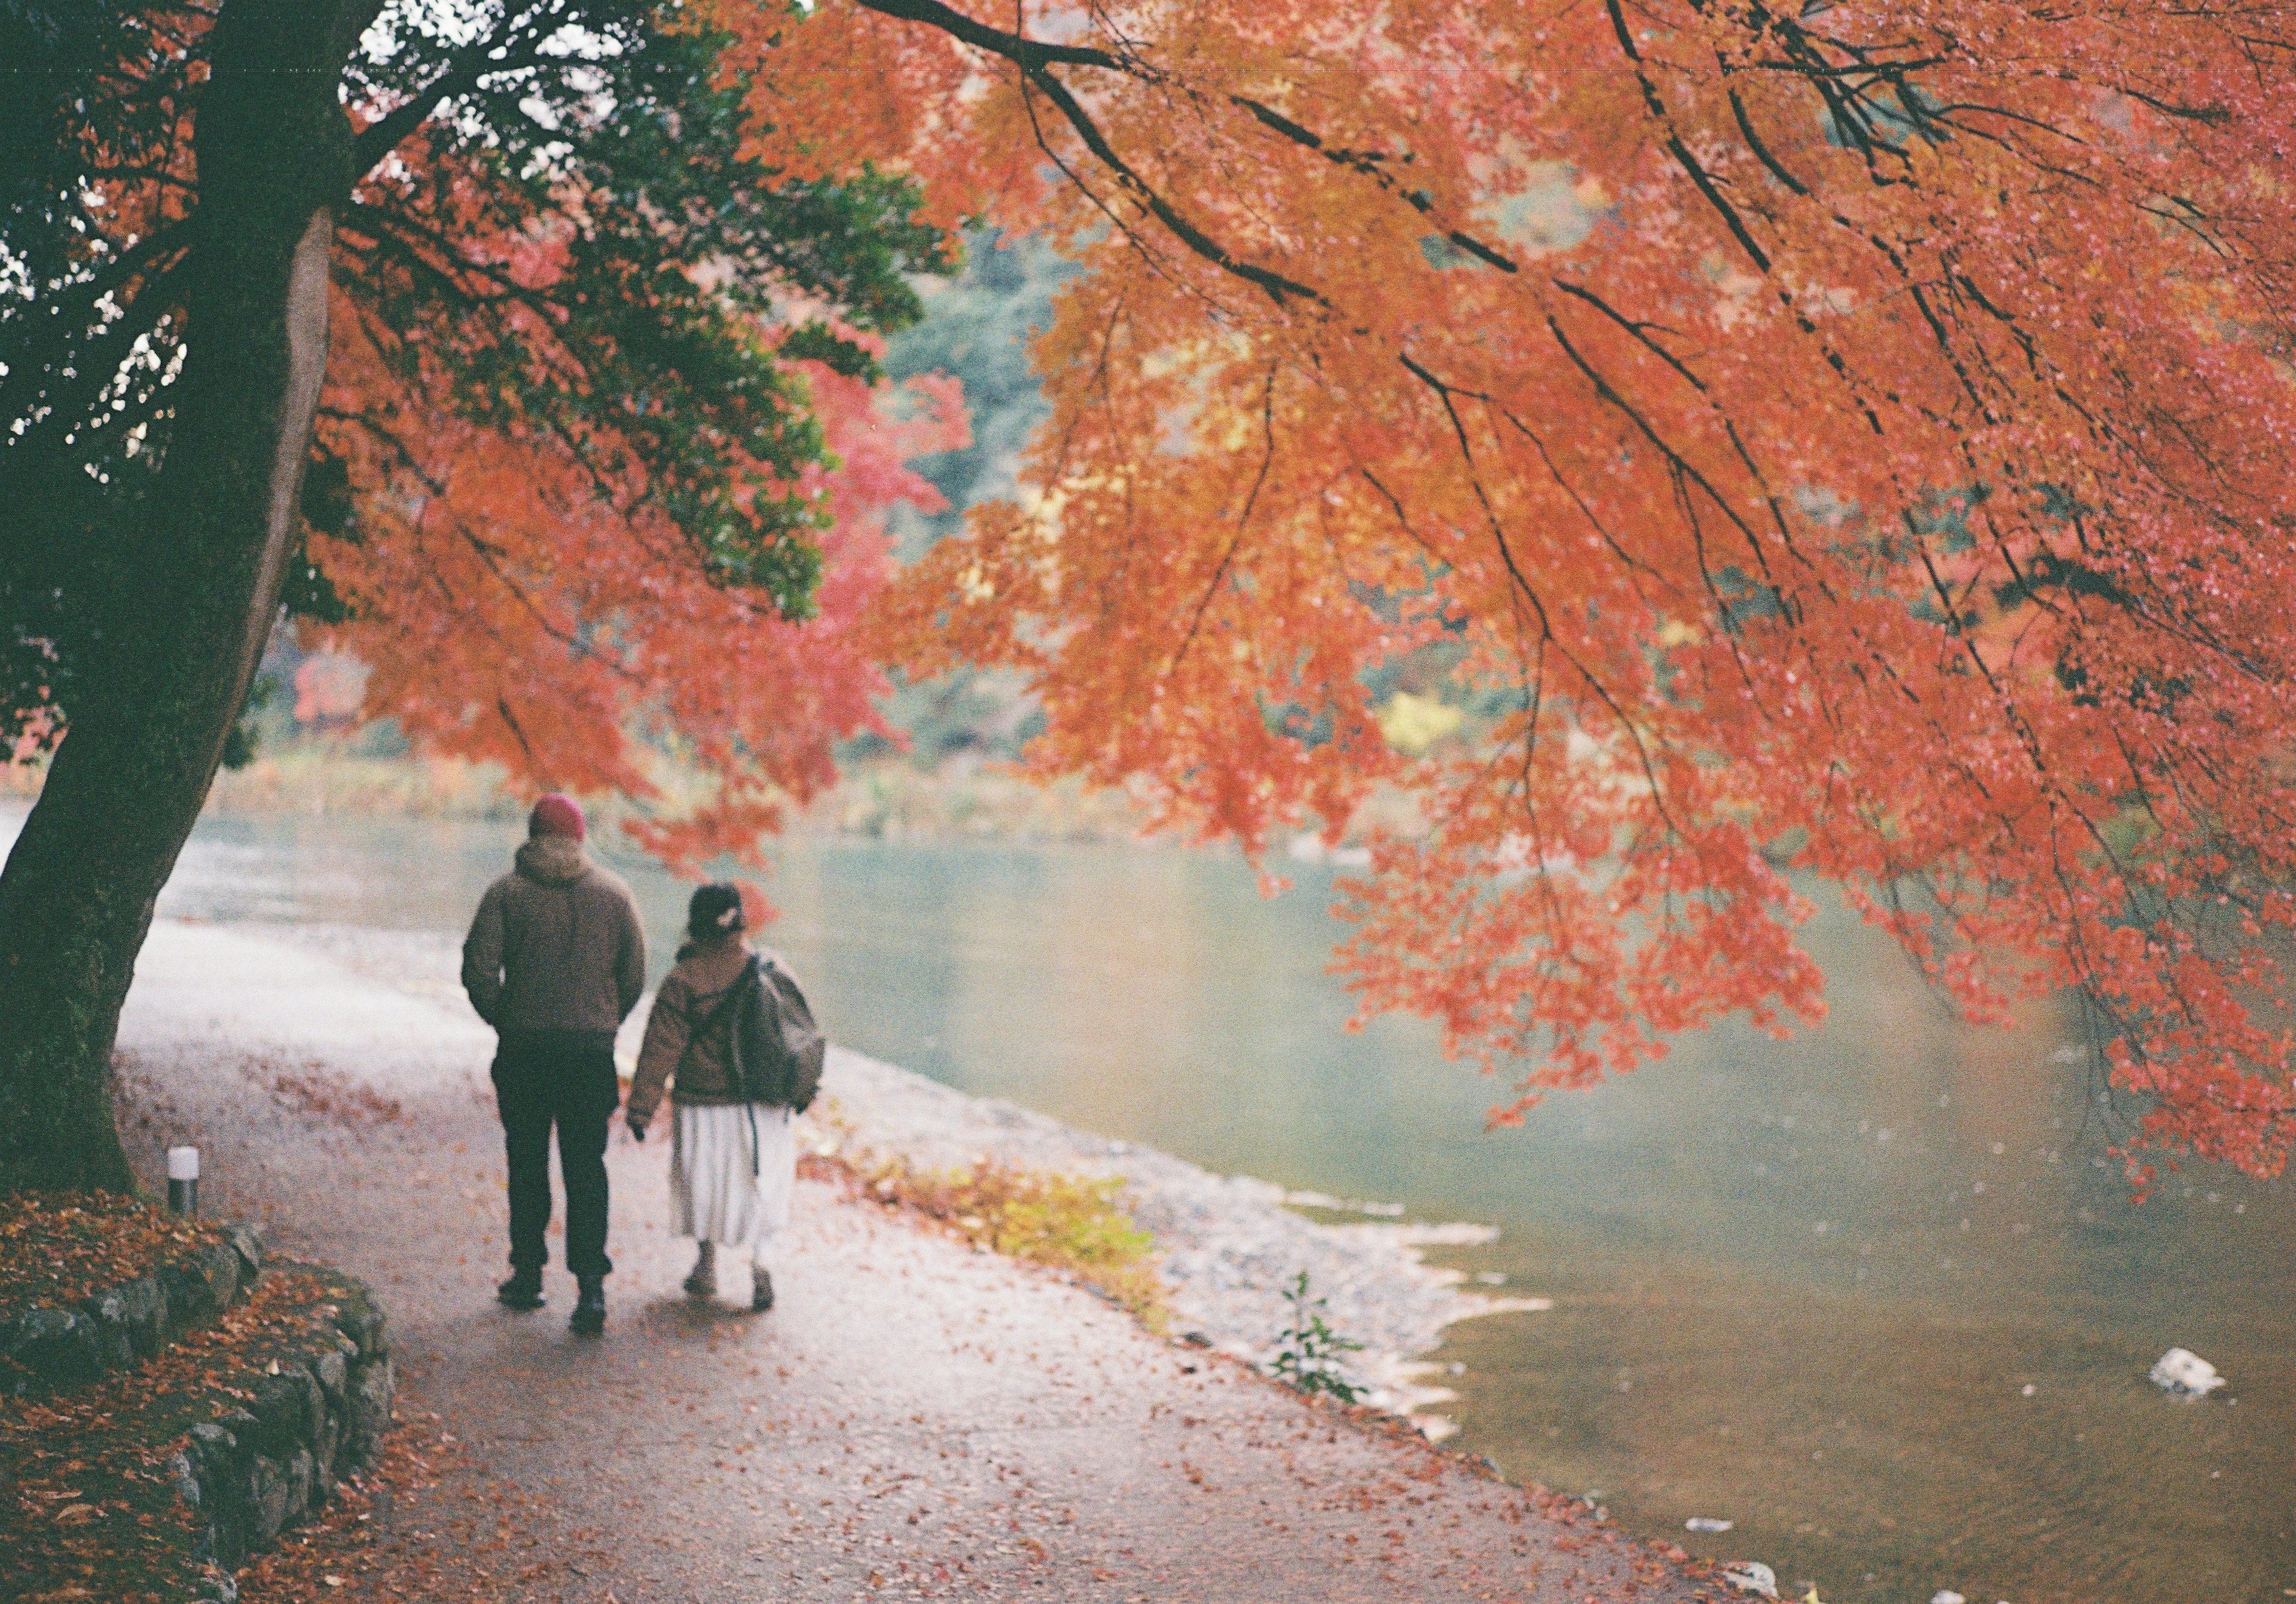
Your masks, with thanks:
[{"label": "brown hooded coat worn by the man in the red cap", "polygon": [[613,1034],[645,993],[645,931],[629,887],[569,836],[535,836],[478,903],[461,988],[503,1032]]}]

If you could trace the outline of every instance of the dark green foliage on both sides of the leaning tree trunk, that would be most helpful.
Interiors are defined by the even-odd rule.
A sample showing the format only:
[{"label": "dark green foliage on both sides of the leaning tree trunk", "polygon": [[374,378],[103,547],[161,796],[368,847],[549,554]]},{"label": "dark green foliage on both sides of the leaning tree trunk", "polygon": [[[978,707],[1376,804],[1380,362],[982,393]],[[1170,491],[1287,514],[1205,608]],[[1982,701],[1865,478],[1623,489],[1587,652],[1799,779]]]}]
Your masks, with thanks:
[{"label": "dark green foliage on both sides of the leaning tree trunk", "polygon": [[[55,738],[135,584],[168,386],[202,338],[177,285],[211,16],[0,16],[0,57],[28,64],[0,74],[0,740]],[[344,71],[367,172],[338,209],[335,285],[404,395],[338,372],[328,407],[402,464],[441,414],[567,460],[565,517],[588,496],[652,522],[712,581],[806,618],[836,455],[801,363],[875,381],[875,336],[921,313],[909,276],[953,250],[905,177],[765,161],[730,44],[677,2],[388,5]],[[305,524],[356,540],[367,489],[315,453]],[[285,607],[344,618],[310,554]]]}]

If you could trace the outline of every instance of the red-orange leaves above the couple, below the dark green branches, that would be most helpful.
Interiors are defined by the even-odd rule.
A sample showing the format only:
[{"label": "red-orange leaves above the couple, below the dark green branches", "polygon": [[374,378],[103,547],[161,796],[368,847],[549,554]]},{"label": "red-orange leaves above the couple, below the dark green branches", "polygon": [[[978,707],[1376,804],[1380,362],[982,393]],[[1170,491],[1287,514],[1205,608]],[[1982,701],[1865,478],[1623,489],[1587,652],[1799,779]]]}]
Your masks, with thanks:
[{"label": "red-orange leaves above the couple, below the dark green branches", "polygon": [[854,623],[889,574],[886,508],[937,506],[902,462],[962,444],[953,388],[891,395],[806,363],[840,466],[801,485],[836,522],[817,616],[792,623],[714,584],[675,529],[602,499],[567,453],[427,407],[347,324],[321,427],[354,469],[363,538],[319,556],[354,611],[328,641],[374,664],[365,712],[535,791],[650,802],[631,830],[673,864],[753,859],[833,781],[831,745],[877,728],[882,678]]}]

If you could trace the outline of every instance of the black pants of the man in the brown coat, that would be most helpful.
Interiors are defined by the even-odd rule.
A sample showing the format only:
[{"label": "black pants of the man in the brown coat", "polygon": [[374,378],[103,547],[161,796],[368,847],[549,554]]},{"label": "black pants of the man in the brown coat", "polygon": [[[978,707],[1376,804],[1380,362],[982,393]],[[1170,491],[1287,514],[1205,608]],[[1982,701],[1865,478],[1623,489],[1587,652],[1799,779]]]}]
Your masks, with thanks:
[{"label": "black pants of the man in the brown coat", "polygon": [[567,1268],[611,1275],[606,1257],[606,1119],[620,1103],[613,1036],[588,1030],[503,1032],[494,1105],[510,1154],[510,1268],[540,1271],[551,1252],[551,1126],[567,1183]]}]

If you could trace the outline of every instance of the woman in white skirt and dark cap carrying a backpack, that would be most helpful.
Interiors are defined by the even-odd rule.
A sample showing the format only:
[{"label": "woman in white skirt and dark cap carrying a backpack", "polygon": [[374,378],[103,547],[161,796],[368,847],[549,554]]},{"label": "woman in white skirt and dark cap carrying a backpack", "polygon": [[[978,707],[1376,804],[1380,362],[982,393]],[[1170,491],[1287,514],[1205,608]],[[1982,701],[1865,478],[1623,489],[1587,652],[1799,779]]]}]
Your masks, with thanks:
[{"label": "woman in white skirt and dark cap carrying a backpack", "polygon": [[[719,1243],[748,1248],[748,1305],[765,1312],[774,1308],[767,1250],[790,1223],[790,1190],[797,1186],[797,1138],[790,1131],[797,1110],[771,1101],[778,1087],[746,1085],[748,1066],[735,1043],[742,993],[753,984],[753,965],[774,965],[751,949],[746,928],[739,889],[705,885],[693,892],[687,942],[654,995],[622,1117],[643,1142],[661,1087],[670,1082],[670,1209],[677,1234],[700,1243],[687,1291],[716,1296]],[[797,997],[794,986],[774,990]],[[797,1007],[804,1009],[804,1000]]]}]

